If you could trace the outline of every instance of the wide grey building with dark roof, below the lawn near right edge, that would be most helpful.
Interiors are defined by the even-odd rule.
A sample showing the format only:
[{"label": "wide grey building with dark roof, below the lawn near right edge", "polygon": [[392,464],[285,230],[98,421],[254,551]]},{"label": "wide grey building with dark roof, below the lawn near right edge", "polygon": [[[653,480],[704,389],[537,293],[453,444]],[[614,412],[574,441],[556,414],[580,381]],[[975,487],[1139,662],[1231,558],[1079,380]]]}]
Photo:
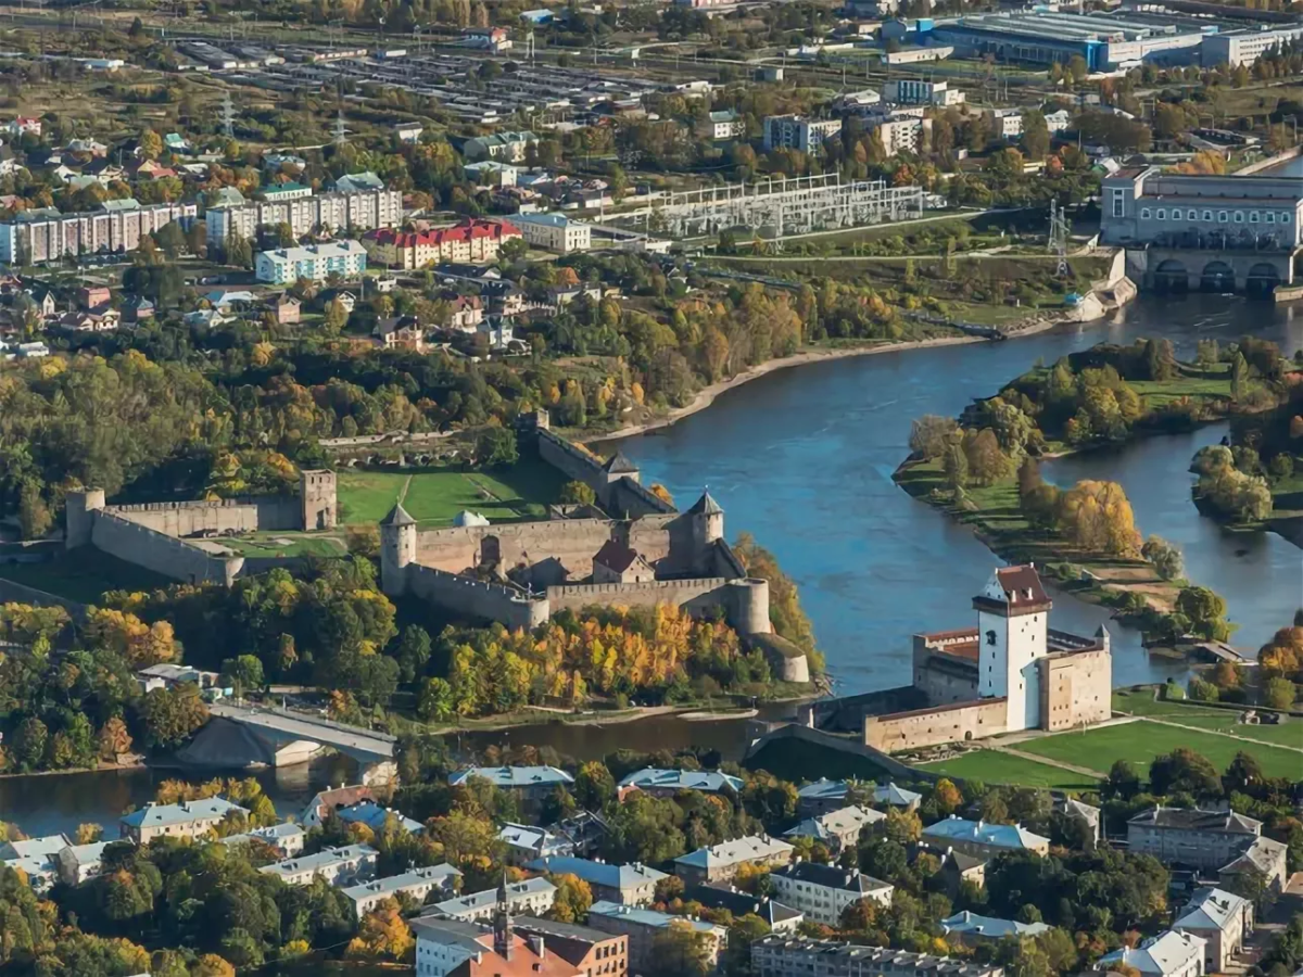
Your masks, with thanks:
[{"label": "wide grey building with dark roof, below the lawn near right edge", "polygon": [[1261,834],[1263,822],[1244,814],[1161,804],[1127,821],[1130,851],[1205,871],[1233,862]]}]

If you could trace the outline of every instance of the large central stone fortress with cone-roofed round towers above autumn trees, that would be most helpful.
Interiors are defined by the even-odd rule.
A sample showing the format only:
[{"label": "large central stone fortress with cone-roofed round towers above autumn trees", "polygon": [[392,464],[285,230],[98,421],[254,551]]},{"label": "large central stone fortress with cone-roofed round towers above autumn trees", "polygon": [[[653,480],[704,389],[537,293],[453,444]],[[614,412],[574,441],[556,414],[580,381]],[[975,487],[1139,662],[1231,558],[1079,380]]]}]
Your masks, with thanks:
[{"label": "large central stone fortress with cone-roofed round towers above autumn trees", "polygon": [[724,513],[709,492],[687,512],[641,485],[623,453],[603,461],[554,434],[547,412],[521,422],[521,449],[584,482],[595,507],[554,505],[532,522],[420,529],[401,505],[380,524],[386,594],[413,595],[459,616],[534,628],[558,611],[603,604],[674,604],[722,614],[762,647],[774,672],[809,681],[805,655],[773,634],[769,582],[724,539]]}]

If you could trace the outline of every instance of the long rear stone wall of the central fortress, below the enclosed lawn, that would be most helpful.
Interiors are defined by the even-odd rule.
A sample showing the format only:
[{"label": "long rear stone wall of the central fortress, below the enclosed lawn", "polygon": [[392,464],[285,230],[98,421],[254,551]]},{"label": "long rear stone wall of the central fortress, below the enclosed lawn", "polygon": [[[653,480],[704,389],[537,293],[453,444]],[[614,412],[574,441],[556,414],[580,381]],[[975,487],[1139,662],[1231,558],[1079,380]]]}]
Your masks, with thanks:
[{"label": "long rear stone wall of the central fortress, below the enclosed lawn", "polygon": [[485,537],[498,539],[504,569],[521,563],[533,567],[555,559],[571,577],[582,580],[593,573],[593,556],[611,538],[611,522],[605,518],[564,518],[430,529],[417,533],[417,563],[460,573],[478,564]]}]

